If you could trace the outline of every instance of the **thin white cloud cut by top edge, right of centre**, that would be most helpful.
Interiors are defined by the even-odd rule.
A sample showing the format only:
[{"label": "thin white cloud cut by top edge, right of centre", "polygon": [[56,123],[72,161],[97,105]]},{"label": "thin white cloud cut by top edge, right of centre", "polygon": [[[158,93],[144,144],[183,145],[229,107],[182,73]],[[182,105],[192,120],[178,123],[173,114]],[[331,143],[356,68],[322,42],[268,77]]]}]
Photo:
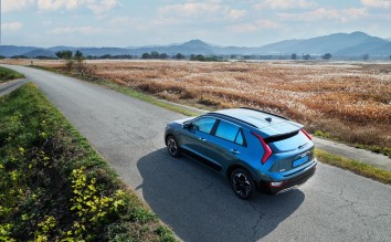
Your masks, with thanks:
[{"label": "thin white cloud cut by top edge, right of centre", "polygon": [[317,7],[315,1],[307,0],[265,0],[254,6],[255,10],[261,9],[309,9]]}]

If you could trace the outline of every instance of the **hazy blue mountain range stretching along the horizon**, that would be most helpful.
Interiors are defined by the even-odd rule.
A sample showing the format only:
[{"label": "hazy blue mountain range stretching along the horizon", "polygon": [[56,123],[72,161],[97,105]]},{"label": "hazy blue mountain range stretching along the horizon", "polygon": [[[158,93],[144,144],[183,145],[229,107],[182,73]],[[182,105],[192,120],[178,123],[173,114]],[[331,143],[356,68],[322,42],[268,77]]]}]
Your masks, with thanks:
[{"label": "hazy blue mountain range stretching along the horizon", "polygon": [[150,45],[140,48],[73,48],[54,46],[40,49],[33,46],[0,46],[0,54],[4,56],[27,55],[35,56],[55,56],[55,52],[71,50],[82,51],[85,55],[102,56],[110,55],[141,55],[146,52],[159,52],[175,55],[181,53],[204,54],[204,55],[290,55],[292,53],[310,54],[315,56],[330,53],[332,56],[390,56],[391,41],[371,36],[363,32],[334,33],[324,36],[317,36],[304,40],[284,40],[281,42],[263,45],[260,48],[240,48],[240,46],[218,46],[205,43],[201,40],[191,40],[181,44],[170,45]]}]

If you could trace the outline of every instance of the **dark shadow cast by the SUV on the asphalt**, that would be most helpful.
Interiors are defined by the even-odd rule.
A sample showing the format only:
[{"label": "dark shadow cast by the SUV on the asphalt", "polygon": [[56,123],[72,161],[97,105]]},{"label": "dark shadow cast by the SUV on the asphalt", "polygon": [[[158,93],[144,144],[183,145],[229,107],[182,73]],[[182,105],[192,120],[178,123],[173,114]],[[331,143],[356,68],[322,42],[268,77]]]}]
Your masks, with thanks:
[{"label": "dark shadow cast by the SUV on the asphalt", "polygon": [[293,189],[277,196],[239,199],[226,179],[166,149],[137,162],[142,185],[136,188],[159,218],[184,241],[256,241],[275,230],[304,201]]}]

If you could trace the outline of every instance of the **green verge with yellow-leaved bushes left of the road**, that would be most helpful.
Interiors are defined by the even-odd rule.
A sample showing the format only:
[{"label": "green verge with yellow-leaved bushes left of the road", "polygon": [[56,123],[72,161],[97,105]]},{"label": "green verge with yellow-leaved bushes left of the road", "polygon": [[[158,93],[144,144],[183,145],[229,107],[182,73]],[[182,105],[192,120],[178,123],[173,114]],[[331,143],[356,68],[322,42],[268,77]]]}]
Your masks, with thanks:
[{"label": "green verge with yellow-leaved bushes left of the road", "polygon": [[31,83],[0,98],[0,241],[176,241]]}]

